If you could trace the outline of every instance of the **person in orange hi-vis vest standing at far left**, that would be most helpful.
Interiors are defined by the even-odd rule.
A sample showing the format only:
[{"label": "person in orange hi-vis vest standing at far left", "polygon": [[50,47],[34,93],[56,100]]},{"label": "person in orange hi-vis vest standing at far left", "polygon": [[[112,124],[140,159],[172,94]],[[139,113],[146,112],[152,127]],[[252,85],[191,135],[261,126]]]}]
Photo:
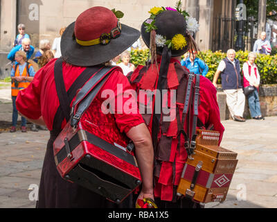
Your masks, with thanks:
[{"label": "person in orange hi-vis vest standing at far left", "polygon": [[[10,76],[12,77],[12,127],[10,133],[16,131],[18,112],[15,105],[19,90],[28,87],[35,76],[33,66],[27,62],[26,53],[17,51],[15,53],[16,64],[12,67]],[[21,117],[21,132],[26,133],[26,119]]]}]

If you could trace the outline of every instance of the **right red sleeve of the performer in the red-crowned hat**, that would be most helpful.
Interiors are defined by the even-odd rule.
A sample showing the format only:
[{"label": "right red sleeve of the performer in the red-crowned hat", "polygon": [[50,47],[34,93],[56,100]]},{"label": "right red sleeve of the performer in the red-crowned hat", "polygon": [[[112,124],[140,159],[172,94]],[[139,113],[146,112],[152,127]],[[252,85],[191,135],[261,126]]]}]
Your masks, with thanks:
[{"label": "right red sleeve of the performer in the red-crowned hat", "polygon": [[144,123],[143,117],[139,113],[136,93],[127,77],[120,71],[114,71],[107,83],[102,87],[101,94],[104,90],[114,92],[114,96],[109,97],[109,103],[114,104],[112,112],[121,133],[127,133],[132,127]]}]

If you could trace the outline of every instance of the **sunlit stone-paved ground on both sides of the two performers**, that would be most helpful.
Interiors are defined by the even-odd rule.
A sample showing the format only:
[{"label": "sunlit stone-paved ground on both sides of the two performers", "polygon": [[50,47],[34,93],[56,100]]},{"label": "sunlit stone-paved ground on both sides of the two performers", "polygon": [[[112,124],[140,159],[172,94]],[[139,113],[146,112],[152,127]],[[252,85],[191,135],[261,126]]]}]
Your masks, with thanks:
[{"label": "sunlit stone-paved ground on both sides of the two performers", "polygon": [[[49,133],[5,131],[12,116],[7,94],[0,88],[0,208],[32,208]],[[237,152],[239,161],[224,203],[206,207],[277,208],[277,117],[222,123],[222,146]]]}]

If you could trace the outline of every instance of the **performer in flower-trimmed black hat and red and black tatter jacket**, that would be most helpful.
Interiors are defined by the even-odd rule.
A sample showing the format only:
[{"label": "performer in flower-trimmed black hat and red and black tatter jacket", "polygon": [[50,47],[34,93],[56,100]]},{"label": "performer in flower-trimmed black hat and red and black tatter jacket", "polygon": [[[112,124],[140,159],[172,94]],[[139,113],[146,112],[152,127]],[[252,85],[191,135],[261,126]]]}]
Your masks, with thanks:
[{"label": "performer in flower-trimmed black hat and red and black tatter jacket", "polygon": [[190,199],[177,196],[181,173],[188,155],[192,154],[193,140],[190,138],[195,135],[196,128],[219,131],[220,141],[224,132],[215,87],[208,78],[190,73],[181,66],[181,56],[197,48],[189,33],[196,31],[197,24],[188,26],[180,11],[181,8],[170,7],[150,10],[151,17],[141,26],[141,36],[150,48],[152,61],[145,66],[139,65],[127,76],[139,94],[138,106],[152,135],[154,202],[161,208],[201,207]]}]

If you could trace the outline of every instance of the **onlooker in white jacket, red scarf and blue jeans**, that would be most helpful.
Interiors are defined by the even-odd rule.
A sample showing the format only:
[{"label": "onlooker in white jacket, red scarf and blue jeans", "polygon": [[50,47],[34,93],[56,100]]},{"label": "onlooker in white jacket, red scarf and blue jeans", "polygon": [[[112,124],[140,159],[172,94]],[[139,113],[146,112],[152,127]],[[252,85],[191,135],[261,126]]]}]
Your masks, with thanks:
[{"label": "onlooker in white jacket, red scarf and blue jeans", "polygon": [[255,90],[247,95],[248,105],[251,117],[253,119],[265,119],[262,117],[260,112],[260,100],[259,100],[259,85],[260,85],[260,74],[258,71],[258,67],[255,64],[257,56],[256,53],[249,53],[248,61],[244,62],[242,67],[243,71],[243,79],[244,79],[244,87],[252,85],[255,87]]}]

